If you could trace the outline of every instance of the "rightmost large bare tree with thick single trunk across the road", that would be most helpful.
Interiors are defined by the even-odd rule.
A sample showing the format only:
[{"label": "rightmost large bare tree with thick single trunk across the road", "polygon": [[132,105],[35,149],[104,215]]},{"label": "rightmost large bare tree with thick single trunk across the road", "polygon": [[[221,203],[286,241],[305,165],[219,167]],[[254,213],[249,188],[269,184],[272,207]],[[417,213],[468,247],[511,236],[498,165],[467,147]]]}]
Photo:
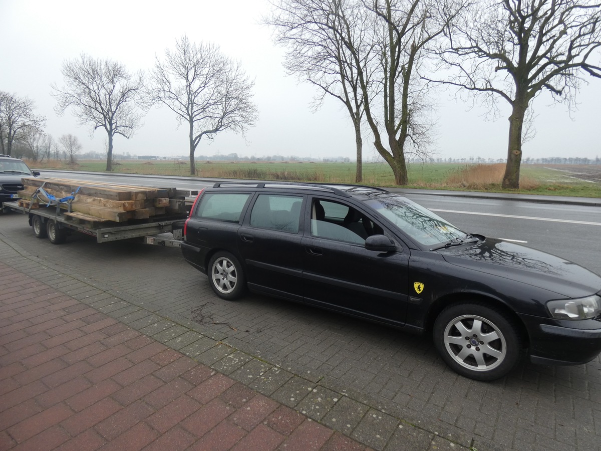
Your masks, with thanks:
[{"label": "rightmost large bare tree with thick single trunk across the road", "polygon": [[441,49],[454,69],[445,81],[511,106],[503,188],[519,188],[524,119],[543,91],[572,105],[584,75],[601,77],[590,60],[601,47],[601,4],[587,0],[480,0],[450,28]]}]

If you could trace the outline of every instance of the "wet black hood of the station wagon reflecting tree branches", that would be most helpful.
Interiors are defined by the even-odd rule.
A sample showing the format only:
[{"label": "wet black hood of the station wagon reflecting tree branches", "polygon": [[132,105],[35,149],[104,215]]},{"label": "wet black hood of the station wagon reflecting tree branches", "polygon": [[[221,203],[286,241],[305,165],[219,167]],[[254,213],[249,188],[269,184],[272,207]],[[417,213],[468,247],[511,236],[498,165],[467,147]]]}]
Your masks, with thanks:
[{"label": "wet black hood of the station wagon reflecting tree branches", "polygon": [[541,287],[568,298],[589,296],[601,289],[601,277],[576,263],[500,239],[486,238],[440,253],[452,265]]}]

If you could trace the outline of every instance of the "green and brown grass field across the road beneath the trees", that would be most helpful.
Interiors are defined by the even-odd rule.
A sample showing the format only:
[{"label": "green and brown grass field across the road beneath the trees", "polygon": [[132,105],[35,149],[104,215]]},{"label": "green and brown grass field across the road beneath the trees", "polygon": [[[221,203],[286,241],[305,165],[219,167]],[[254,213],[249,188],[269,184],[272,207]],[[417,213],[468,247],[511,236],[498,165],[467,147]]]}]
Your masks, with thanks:
[{"label": "green and brown grass field across the road beneath the trees", "polygon": [[[37,169],[54,168],[103,172],[105,161],[79,161],[35,164]],[[501,180],[504,164],[409,164],[406,188],[450,189],[457,191],[517,192],[575,197],[601,197],[601,166],[522,165],[520,189],[504,190]],[[115,173],[189,176],[186,161],[118,161]],[[209,179],[297,180],[319,183],[355,183],[354,163],[307,162],[197,162],[197,176]],[[364,185],[395,186],[392,170],[385,163],[364,163]]]}]

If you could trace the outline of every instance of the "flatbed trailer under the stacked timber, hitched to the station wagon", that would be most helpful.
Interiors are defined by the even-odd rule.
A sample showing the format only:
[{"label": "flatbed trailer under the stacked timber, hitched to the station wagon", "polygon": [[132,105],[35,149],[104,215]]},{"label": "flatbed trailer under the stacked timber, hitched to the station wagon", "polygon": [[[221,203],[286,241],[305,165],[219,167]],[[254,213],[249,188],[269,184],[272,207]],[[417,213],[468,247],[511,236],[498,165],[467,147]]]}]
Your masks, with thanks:
[{"label": "flatbed trailer under the stacked timber, hitched to the station wagon", "polygon": [[4,203],[4,207],[28,215],[29,225],[37,238],[48,238],[52,244],[63,243],[70,232],[94,236],[99,243],[121,239],[144,238],[150,245],[180,247],[186,215],[136,219],[124,224],[117,222],[81,221],[63,215],[56,206],[29,209],[19,202]]}]

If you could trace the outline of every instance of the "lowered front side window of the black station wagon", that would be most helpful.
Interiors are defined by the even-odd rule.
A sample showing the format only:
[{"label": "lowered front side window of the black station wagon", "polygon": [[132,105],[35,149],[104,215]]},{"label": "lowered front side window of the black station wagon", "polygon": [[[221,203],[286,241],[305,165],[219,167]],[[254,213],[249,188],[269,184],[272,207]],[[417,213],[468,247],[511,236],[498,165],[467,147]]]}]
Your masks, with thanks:
[{"label": "lowered front side window of the black station wagon", "polygon": [[311,235],[364,244],[371,235],[383,233],[370,218],[352,206],[328,200],[311,204]]}]

